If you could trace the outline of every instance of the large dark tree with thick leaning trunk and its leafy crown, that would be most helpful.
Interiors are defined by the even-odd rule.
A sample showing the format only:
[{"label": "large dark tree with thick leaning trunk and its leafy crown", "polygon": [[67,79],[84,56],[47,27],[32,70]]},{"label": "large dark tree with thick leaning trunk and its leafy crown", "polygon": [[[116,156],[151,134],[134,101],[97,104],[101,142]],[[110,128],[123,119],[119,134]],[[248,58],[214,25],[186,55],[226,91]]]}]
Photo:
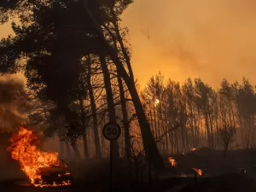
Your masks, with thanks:
[{"label": "large dark tree with thick leaning trunk and its leafy crown", "polygon": [[[154,143],[133,79],[130,53],[125,45],[125,33],[119,28],[119,16],[130,3],[132,2],[60,0],[44,3],[18,1],[16,4],[2,5],[1,11],[5,16],[8,15],[8,11],[13,10],[21,21],[21,26],[13,26],[15,38],[9,37],[2,42],[2,71],[16,71],[20,67],[16,61],[21,57],[26,58],[28,61],[25,65],[25,74],[29,87],[42,93],[42,97],[47,96],[53,100],[59,112],[67,117],[67,114],[72,114],[69,113],[68,106],[77,97],[73,90],[77,90],[76,86],[79,87],[79,61],[82,55],[106,53],[131,94],[146,154],[148,155],[150,148],[154,166],[162,167],[163,162]],[[116,40],[119,44],[118,49],[112,46]],[[10,52],[15,53],[15,56],[10,56]],[[68,73],[67,77],[65,73]],[[77,135],[74,133],[76,131],[72,132],[74,136]]]}]

